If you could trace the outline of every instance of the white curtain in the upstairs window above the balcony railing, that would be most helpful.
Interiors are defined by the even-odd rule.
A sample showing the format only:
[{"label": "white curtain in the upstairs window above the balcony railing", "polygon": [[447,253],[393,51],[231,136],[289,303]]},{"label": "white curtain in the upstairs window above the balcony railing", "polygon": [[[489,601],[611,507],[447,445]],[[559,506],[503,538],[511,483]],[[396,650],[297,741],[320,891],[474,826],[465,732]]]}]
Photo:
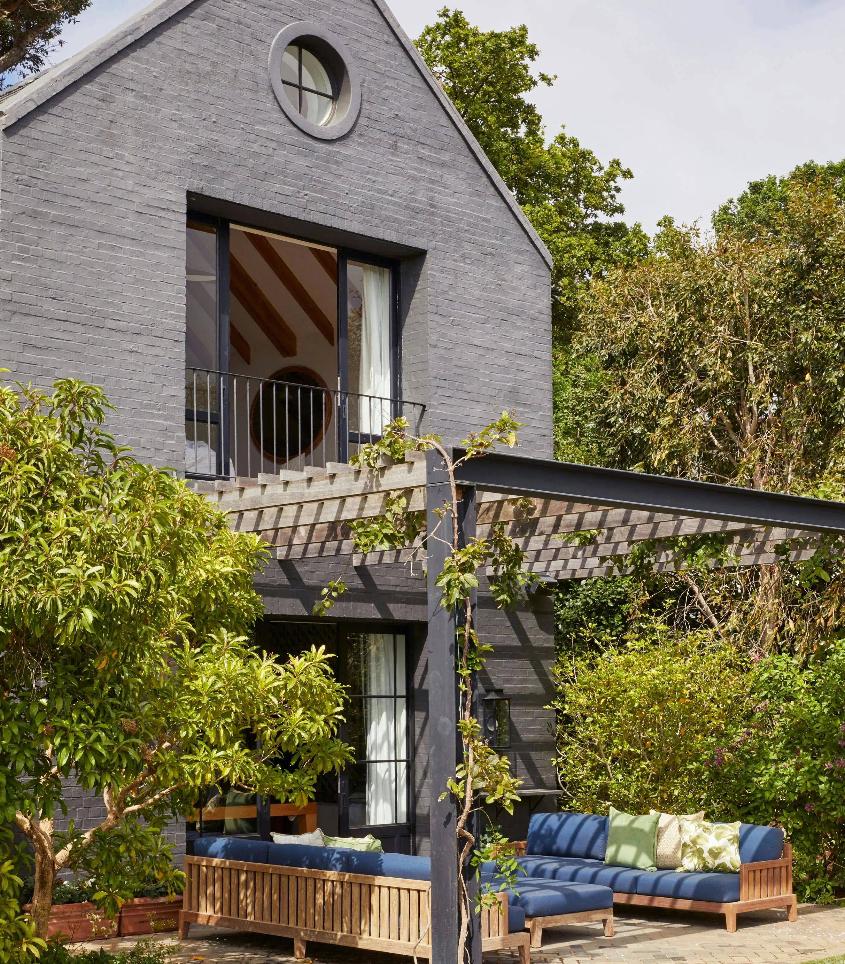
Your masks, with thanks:
[{"label": "white curtain in the upstairs window above the balcony railing", "polygon": [[[377,398],[390,397],[390,272],[363,265],[361,292],[361,368],[358,391]],[[381,435],[390,421],[387,401],[360,400],[360,431]]]}]

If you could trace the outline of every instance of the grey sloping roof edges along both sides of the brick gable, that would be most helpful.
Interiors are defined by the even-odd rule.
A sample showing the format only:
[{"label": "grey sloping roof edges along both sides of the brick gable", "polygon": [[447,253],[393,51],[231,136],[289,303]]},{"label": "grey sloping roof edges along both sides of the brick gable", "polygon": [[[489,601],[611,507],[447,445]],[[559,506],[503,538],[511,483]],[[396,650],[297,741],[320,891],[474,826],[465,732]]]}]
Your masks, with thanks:
[{"label": "grey sloping roof edges along both sides of the brick gable", "polygon": [[[0,94],[0,129],[11,126],[16,120],[25,117],[30,111],[40,107],[45,101],[55,94],[60,94],[74,81],[84,77],[95,67],[99,67],[109,58],[114,57],[121,50],[129,46],[135,40],[139,40],[154,30],[159,24],[170,19],[174,14],[179,13],[189,7],[194,0],[153,0],[148,7],[141,13],[126,20],[111,33],[106,34],[100,40],[95,40],[78,54],[69,57],[66,61],[56,67],[50,67],[43,73],[29,78],[20,84],[14,85],[8,91]],[[521,228],[528,235],[531,243],[541,254],[545,263],[551,267],[552,256],[541,241],[540,235],[525,216],[524,211],[516,202],[514,195],[508,190],[508,186],[490,164],[487,154],[482,150],[481,145],[473,137],[469,128],[463,122],[461,115],[455,109],[452,101],[443,93],[440,85],[436,82],[431,70],[426,67],[422,57],[420,57],[416,47],[414,47],[408,35],[400,27],[396,17],[391,13],[384,0],[372,0],[376,8],[382,14],[385,22],[390,28],[396,40],[405,48],[414,67],[417,68],[423,80],[435,94],[440,106],[455,125],[456,130],[461,135],[462,140],[474,155],[481,168],[487,174],[495,190],[502,200],[510,207],[515,219]]]}]

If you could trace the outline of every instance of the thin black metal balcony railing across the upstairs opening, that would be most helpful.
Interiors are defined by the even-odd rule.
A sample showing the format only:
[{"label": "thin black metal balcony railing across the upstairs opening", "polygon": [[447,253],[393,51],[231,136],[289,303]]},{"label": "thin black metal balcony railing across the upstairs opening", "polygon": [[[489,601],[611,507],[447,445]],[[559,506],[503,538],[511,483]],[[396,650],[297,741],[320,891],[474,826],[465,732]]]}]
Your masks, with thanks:
[{"label": "thin black metal balcony railing across the upstairs opening", "polygon": [[348,462],[400,415],[411,432],[421,430],[424,405],[323,388],[305,373],[287,377],[282,382],[187,368],[185,474],[255,478],[281,469],[323,469]]}]

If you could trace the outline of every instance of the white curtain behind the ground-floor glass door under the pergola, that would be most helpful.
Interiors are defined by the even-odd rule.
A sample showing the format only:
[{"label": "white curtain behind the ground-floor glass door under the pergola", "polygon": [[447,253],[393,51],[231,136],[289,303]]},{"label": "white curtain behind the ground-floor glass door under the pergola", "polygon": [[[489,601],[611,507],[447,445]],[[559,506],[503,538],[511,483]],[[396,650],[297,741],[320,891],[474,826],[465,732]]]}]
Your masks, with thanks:
[{"label": "white curtain behind the ground-floor glass door under the pergola", "polygon": [[[405,639],[396,637],[398,645],[394,655],[393,638],[392,633],[381,632],[367,636],[364,695],[370,698],[364,700],[364,723],[368,826],[403,823],[408,818],[407,764],[394,763],[397,757],[406,755]],[[393,693],[403,698],[394,701]],[[402,741],[399,746],[397,736]]]}]

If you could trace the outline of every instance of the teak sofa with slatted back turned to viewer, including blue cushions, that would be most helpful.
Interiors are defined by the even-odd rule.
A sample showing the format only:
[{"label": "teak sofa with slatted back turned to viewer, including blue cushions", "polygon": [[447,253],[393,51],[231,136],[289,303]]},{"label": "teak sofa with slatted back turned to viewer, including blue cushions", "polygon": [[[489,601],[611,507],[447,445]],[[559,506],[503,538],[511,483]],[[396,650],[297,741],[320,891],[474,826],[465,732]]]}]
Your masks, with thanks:
[{"label": "teak sofa with slatted back turned to viewer, including blue cushions", "polygon": [[[339,847],[201,838],[185,858],[179,937],[191,924],[430,958],[427,857]],[[515,948],[530,964],[525,914],[504,894],[481,914],[482,950]]]}]

